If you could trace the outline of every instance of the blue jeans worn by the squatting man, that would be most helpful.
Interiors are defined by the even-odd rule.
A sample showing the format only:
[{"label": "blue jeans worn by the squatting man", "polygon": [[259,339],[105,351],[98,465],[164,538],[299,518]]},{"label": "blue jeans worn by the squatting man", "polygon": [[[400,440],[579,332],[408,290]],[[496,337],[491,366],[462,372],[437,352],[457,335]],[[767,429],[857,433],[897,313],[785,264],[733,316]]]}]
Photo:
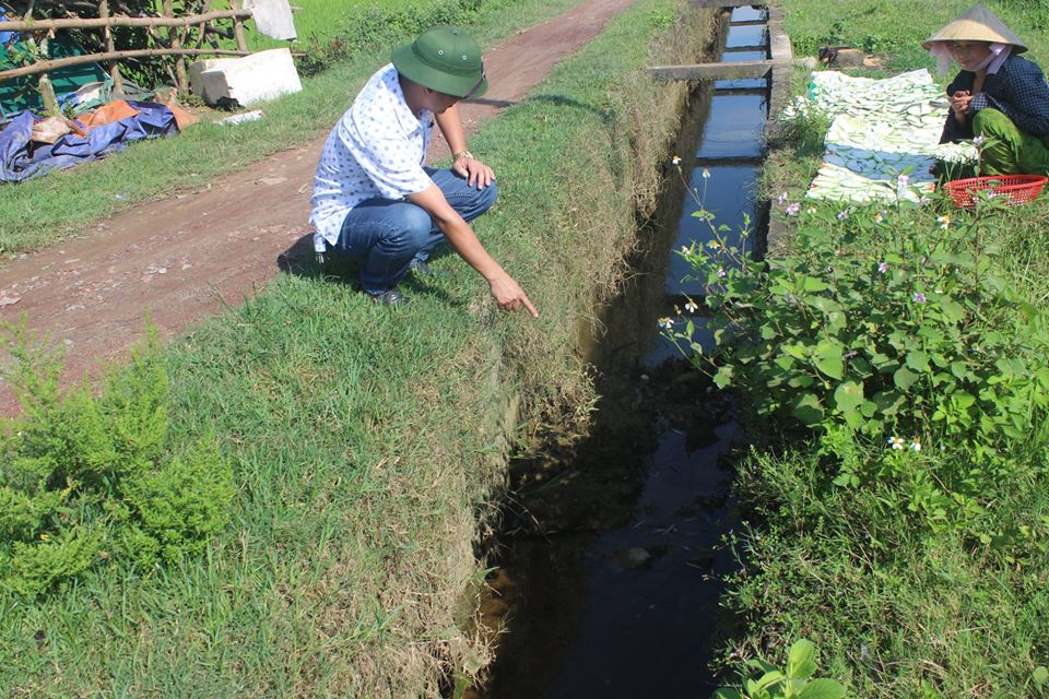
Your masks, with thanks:
[{"label": "blue jeans worn by the squatting man", "polygon": [[[451,169],[426,168],[451,208],[470,222],[495,203],[492,182],[483,189],[470,187]],[[445,234],[421,206],[393,199],[369,199],[354,206],[339,233],[331,252],[362,258],[361,286],[368,294],[381,294],[397,286],[413,262],[425,262]]]}]

